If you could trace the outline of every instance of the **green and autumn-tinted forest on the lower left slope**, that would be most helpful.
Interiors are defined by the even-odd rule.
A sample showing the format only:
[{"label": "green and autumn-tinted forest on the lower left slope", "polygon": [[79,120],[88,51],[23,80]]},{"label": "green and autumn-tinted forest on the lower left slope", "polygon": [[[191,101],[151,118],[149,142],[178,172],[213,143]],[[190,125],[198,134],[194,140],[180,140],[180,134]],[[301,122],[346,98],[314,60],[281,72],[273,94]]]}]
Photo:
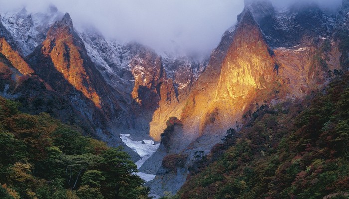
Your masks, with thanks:
[{"label": "green and autumn-tinted forest on the lower left slope", "polygon": [[121,147],[0,97],[0,199],[148,199]]}]

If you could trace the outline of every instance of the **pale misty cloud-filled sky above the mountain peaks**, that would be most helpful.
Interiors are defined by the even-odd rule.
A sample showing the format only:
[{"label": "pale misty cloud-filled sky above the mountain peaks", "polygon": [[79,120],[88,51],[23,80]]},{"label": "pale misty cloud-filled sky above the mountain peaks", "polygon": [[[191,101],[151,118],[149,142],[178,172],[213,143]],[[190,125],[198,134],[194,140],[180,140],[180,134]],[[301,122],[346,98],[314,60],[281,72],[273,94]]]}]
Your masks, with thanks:
[{"label": "pale misty cloud-filled sky above the mountain peaks", "polygon": [[[295,0],[271,1],[284,7]],[[325,7],[341,2],[316,1]],[[192,55],[209,54],[244,7],[243,0],[0,0],[0,12],[23,6],[42,12],[49,4],[68,12],[77,29],[91,23],[121,42],[139,41],[157,51],[179,48]]]}]

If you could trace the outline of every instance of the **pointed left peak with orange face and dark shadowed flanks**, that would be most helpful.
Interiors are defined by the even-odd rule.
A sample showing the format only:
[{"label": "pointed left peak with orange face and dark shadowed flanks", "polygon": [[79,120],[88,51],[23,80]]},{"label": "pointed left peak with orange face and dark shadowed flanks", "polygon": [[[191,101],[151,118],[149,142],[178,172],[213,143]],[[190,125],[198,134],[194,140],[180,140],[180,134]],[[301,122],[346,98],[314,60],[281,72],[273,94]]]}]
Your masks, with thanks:
[{"label": "pointed left peak with orange face and dark shadowed flanks", "polygon": [[118,92],[105,82],[87,55],[69,14],[52,24],[46,39],[28,56],[28,62],[35,74],[93,124],[97,136],[106,139],[111,129],[128,125],[121,116],[124,110],[116,98]]}]

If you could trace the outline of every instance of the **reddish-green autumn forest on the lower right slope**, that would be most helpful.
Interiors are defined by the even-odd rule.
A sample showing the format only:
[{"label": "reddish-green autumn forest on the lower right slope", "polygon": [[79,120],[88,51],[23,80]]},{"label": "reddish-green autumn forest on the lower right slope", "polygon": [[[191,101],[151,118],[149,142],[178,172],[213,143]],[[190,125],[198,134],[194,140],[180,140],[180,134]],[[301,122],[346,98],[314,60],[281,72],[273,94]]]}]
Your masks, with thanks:
[{"label": "reddish-green autumn forest on the lower right slope", "polygon": [[349,77],[305,100],[256,104],[165,199],[349,199]]}]

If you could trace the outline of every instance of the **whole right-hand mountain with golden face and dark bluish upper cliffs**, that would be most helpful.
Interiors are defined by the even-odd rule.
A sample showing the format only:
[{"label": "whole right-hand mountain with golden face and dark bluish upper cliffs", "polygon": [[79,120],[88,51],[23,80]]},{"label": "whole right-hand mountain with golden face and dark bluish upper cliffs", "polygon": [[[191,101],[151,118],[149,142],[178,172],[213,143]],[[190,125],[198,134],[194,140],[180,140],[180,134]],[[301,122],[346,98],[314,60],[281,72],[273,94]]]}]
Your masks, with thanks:
[{"label": "whole right-hand mountain with golden face and dark bluish upper cliffs", "polygon": [[[206,70],[184,99],[184,107],[177,106],[176,111],[182,111],[172,113],[181,125],[167,128],[162,134],[167,138],[159,147],[158,155],[164,156],[162,164],[150,164],[156,162],[154,156],[148,160],[149,165],[146,161],[143,166],[145,171],[158,170],[155,180],[148,183],[154,192],[161,194],[167,190],[175,193],[186,179],[185,168],[192,166],[195,157],[207,154],[226,136],[229,128],[245,125],[246,118],[261,106],[304,99],[324,88],[334,73],[348,71],[348,65],[340,61],[344,51],[340,50],[341,42],[335,36],[334,21],[338,20],[335,14],[322,11],[315,5],[295,5],[283,12],[270,6],[264,1],[246,4],[238,16],[238,24],[223,35],[221,43],[212,52]],[[278,23],[275,24],[277,27],[287,22],[287,28],[271,29],[275,26],[265,25],[270,18]],[[305,25],[313,23],[314,18],[317,23]],[[323,24],[326,28],[312,31]],[[288,38],[294,35],[293,32],[298,32],[299,27],[302,27],[301,33]],[[280,31],[287,37],[277,42],[268,39],[277,38],[273,34],[282,36]],[[346,38],[348,31],[342,37],[343,40]],[[280,42],[282,40],[291,44]],[[176,144],[178,142],[180,146]],[[174,159],[174,153],[181,155],[177,159],[179,162],[185,162],[178,166],[177,171],[166,167],[169,159]]]}]

